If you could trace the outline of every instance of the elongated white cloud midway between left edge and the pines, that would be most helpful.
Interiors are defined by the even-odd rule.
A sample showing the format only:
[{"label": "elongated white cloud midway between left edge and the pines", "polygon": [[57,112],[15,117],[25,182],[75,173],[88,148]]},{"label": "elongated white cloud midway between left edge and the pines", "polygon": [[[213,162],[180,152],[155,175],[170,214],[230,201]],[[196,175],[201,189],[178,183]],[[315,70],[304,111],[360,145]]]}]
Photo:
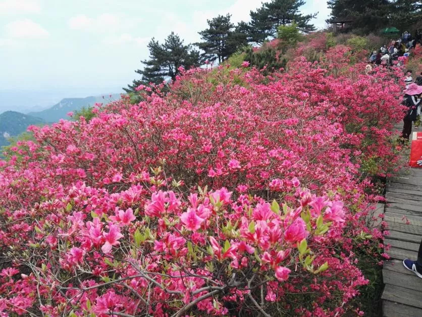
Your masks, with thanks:
[{"label": "elongated white cloud midway between left edge and the pines", "polygon": [[111,13],[104,13],[97,17],[79,14],[69,19],[68,26],[72,30],[104,33],[133,28],[139,21],[139,18],[120,17]]}]

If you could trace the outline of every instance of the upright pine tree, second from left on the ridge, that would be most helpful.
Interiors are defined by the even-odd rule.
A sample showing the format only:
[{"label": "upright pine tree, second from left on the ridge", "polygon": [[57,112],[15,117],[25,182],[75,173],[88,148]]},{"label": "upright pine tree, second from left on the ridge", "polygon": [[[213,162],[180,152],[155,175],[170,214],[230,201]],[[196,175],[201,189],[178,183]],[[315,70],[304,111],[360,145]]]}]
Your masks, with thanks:
[{"label": "upright pine tree, second from left on the ridge", "polygon": [[221,63],[247,43],[246,36],[235,29],[230,18],[231,15],[227,14],[207,20],[208,28],[198,32],[203,42],[196,45],[205,52],[203,56],[209,61],[218,59]]}]

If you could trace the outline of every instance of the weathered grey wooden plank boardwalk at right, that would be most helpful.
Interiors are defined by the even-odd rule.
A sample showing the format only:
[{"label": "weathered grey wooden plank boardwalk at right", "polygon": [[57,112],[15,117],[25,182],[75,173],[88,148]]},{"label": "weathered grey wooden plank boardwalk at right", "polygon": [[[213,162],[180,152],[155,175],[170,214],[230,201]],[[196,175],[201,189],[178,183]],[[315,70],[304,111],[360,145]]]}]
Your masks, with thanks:
[{"label": "weathered grey wooden plank boardwalk at right", "polygon": [[[403,153],[408,157],[409,152]],[[403,168],[389,180],[384,220],[388,222],[391,260],[383,268],[385,317],[422,316],[422,279],[403,267],[402,260],[416,260],[422,240],[422,168]],[[406,223],[406,217],[409,224]]]}]

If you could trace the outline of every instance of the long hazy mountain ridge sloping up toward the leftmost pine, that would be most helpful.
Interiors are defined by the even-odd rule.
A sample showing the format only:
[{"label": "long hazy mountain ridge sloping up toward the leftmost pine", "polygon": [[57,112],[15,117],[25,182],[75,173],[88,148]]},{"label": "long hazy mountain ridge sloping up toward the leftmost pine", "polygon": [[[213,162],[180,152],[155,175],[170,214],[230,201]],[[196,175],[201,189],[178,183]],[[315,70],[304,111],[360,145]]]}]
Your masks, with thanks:
[{"label": "long hazy mountain ridge sloping up toward the leftmost pine", "polygon": [[38,112],[30,112],[28,115],[43,119],[48,123],[57,122],[60,119],[69,119],[67,113],[70,111],[80,110],[83,107],[92,107],[95,103],[108,104],[112,101],[119,100],[120,94],[100,97],[86,98],[65,98],[51,108]]}]

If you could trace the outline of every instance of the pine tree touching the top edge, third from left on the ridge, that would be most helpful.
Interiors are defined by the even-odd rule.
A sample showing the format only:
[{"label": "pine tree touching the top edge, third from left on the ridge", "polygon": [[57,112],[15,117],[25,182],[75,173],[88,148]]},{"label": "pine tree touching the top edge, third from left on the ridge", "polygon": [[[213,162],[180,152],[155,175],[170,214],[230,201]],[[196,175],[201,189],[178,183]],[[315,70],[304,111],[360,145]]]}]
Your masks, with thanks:
[{"label": "pine tree touching the top edge, third from left on the ridge", "polygon": [[277,36],[278,27],[295,22],[303,32],[314,31],[315,27],[309,24],[318,13],[302,15],[299,8],[303,0],[273,0],[262,4],[255,12],[250,12],[250,33],[254,42],[262,43],[267,37]]}]

